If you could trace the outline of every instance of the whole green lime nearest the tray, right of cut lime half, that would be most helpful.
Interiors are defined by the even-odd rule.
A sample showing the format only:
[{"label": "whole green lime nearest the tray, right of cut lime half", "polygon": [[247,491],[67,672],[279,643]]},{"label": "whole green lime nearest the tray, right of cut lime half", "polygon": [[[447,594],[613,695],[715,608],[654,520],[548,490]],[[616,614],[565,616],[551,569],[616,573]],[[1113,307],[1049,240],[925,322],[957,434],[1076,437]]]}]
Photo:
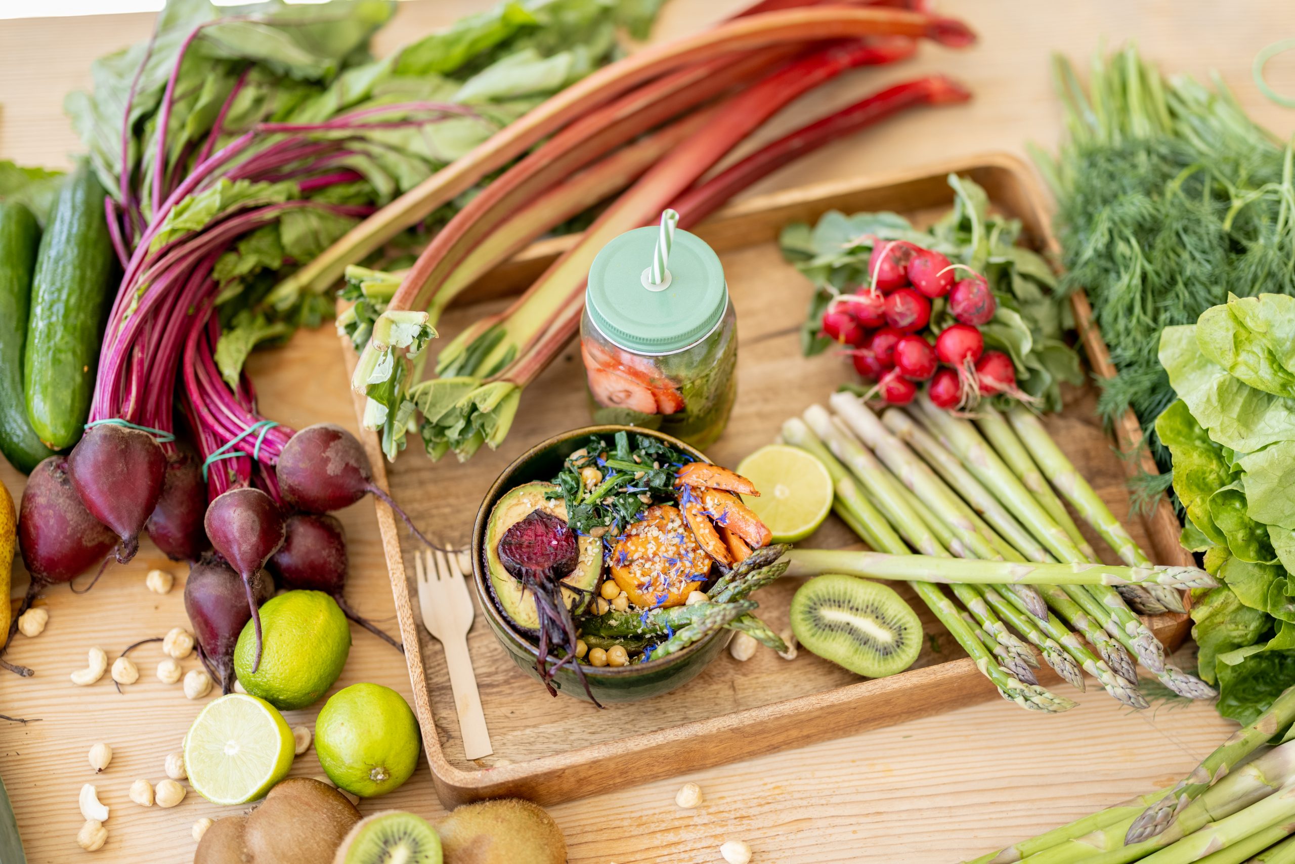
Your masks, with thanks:
[{"label": "whole green lime nearest the tray, right of cut lime half", "polygon": [[315,753],[338,789],[376,798],[400,788],[418,766],[418,720],[381,684],[338,690],[315,722]]}]

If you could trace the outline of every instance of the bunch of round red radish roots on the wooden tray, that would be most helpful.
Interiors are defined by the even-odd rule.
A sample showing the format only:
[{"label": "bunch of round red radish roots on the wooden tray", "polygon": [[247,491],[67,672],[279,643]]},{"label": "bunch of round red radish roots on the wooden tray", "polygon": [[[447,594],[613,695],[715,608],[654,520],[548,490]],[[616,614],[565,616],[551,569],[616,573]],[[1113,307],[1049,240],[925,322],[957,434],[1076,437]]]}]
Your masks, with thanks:
[{"label": "bunch of round red radish roots on the wooden tray", "polygon": [[[965,271],[963,279],[957,279]],[[927,395],[936,405],[966,409],[980,396],[1017,389],[1017,373],[1002,351],[985,351],[980,326],[998,304],[989,282],[969,267],[954,264],[934,249],[904,240],[874,238],[868,259],[872,279],[853,294],[833,298],[822,315],[822,333],[848,346],[855,369],[894,405]],[[938,334],[930,328],[932,303],[947,303],[956,320]]]}]

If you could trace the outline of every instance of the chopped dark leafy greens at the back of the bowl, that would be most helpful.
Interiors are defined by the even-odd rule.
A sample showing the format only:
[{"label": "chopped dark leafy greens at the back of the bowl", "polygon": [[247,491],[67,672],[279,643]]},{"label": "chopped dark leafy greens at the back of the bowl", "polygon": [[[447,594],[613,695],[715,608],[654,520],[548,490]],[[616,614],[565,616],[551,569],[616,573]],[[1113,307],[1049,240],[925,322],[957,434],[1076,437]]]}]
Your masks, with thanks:
[{"label": "chopped dark leafy greens at the back of the bowl", "polygon": [[[607,449],[602,437],[591,435],[581,448],[567,457],[554,478],[566,501],[567,525],[576,534],[592,534],[594,529],[611,529],[613,534],[620,534],[650,506],[641,495],[649,496],[653,504],[673,503],[675,472],[694,461],[688,453],[651,435],[635,435],[631,443],[629,434],[619,431],[614,443],[614,448]],[[588,488],[580,475],[583,469],[589,468],[602,477],[593,488]]]}]

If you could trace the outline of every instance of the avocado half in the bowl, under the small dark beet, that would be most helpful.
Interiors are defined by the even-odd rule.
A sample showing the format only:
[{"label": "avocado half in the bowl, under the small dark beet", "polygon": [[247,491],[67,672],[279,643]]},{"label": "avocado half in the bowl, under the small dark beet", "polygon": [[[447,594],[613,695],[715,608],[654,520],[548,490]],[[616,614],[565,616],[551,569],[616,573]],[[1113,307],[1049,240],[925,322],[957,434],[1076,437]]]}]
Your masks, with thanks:
[{"label": "avocado half in the bowl, under the small dark beet", "polygon": [[[535,596],[504,567],[499,560],[499,541],[505,531],[534,510],[545,510],[566,522],[566,501],[561,497],[545,497],[557,488],[553,483],[539,482],[512,488],[495,503],[495,508],[490,512],[490,522],[486,523],[486,573],[490,574],[491,596],[509,623],[527,636],[539,636],[540,614],[535,606]],[[562,582],[584,591],[593,591],[598,584],[598,576],[602,575],[602,543],[597,538],[581,536],[579,544],[580,560],[575,570]],[[562,597],[567,609],[579,613],[591,595],[563,591]]]}]

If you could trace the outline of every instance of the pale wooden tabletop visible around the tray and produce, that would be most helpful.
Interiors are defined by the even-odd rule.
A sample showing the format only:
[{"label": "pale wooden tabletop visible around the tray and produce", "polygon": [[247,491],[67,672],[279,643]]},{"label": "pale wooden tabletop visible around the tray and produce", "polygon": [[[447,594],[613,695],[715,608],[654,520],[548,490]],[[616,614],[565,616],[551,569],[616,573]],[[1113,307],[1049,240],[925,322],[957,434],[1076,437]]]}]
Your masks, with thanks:
[{"label": "pale wooden tabletop visible around the tray and produce", "polygon": [[[378,49],[486,5],[487,0],[401,4]],[[741,0],[672,0],[657,34],[697,30],[741,5]],[[768,179],[763,189],[949,155],[1019,152],[1024,141],[1050,145],[1058,110],[1049,89],[1048,54],[1062,49],[1087,57],[1102,38],[1112,45],[1136,39],[1149,57],[1176,71],[1200,75],[1217,69],[1255,118],[1283,136],[1295,131],[1295,113],[1267,102],[1250,80],[1251,58],[1260,48],[1295,36],[1295,6],[1283,0],[944,0],[939,5],[979,31],[979,47],[961,53],[923,47],[916,62],[847,76],[789,110],[778,126],[926,71],[967,82],[975,101],[906,117],[839,142]],[[145,38],[150,22],[150,16],[133,14],[0,22],[0,158],[66,163],[65,154],[76,152],[78,141],[60,110],[63,93],[87,84],[93,57]],[[1295,93],[1295,60],[1278,58],[1270,71],[1279,89]],[[258,354],[250,368],[268,416],[298,426],[333,421],[355,427],[330,326]],[[14,497],[21,494],[21,478],[5,464],[0,479]],[[360,503],[341,517],[351,553],[347,593],[363,614],[394,628],[373,508]],[[126,694],[115,693],[106,676],[84,689],[67,680],[84,666],[92,645],[115,655],[139,639],[186,624],[183,580],[166,596],[149,593],[144,574],[152,566],[181,576],[183,567],[146,544],[132,565],[110,571],[89,596],[74,598],[63,587],[45,592],[48,628],[35,640],[18,636],[9,655],[34,667],[35,677],[0,677],[0,712],[39,719],[0,724],[0,772],[34,864],[82,860],[74,839],[82,823],[76,794],[87,781],[98,784],[113,808],[109,841],[96,860],[188,861],[194,848],[192,823],[223,815],[197,795],[167,811],[142,810],[127,799],[136,777],[162,779],[164,755],[179,749],[198,709],[179,685],[153,677],[162,657],[155,645],[133,654],[144,674]],[[17,570],[16,595],[26,583],[21,565]],[[194,665],[189,659],[185,667]],[[378,681],[409,696],[400,655],[359,630],[338,687],[355,681]],[[313,714],[290,712],[289,722],[310,725]],[[552,812],[566,832],[574,864],[717,861],[717,847],[729,838],[747,841],[758,864],[948,863],[1162,786],[1213,749],[1229,727],[1208,705],[1131,712],[1101,690],[1080,696],[1077,709],[1058,716],[987,702],[676,780],[635,786],[627,779],[614,794]],[[97,780],[85,758],[96,741],[115,751],[111,767]],[[293,773],[320,773],[313,751],[298,759]],[[701,784],[706,795],[692,812],[673,804],[685,780]],[[425,766],[404,788],[361,810],[387,807],[429,819],[443,813]]]}]

